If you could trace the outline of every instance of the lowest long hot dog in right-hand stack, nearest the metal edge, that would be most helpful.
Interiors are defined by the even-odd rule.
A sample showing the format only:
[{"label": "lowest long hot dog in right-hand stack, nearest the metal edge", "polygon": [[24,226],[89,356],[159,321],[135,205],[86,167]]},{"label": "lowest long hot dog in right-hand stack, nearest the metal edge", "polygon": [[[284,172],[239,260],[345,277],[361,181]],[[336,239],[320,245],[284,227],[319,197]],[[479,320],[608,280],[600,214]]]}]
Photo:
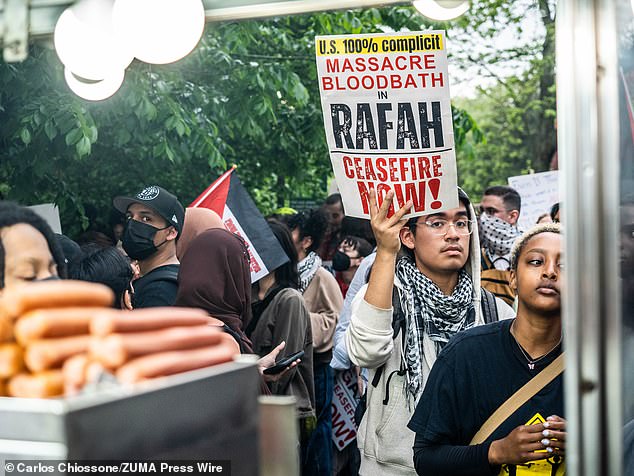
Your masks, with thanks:
[{"label": "lowest long hot dog in right-hand stack, nearest the metal edge", "polygon": [[211,347],[139,357],[119,368],[117,379],[123,383],[135,383],[229,362],[239,354],[236,352],[235,340],[228,334],[221,334],[221,340],[220,344]]}]

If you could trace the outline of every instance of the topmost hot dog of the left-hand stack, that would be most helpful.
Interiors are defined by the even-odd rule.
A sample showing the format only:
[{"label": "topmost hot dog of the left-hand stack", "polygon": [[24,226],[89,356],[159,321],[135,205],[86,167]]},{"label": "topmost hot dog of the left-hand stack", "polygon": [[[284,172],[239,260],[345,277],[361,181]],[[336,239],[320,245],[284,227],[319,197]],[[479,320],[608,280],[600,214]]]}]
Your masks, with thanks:
[{"label": "topmost hot dog of the left-hand stack", "polygon": [[28,283],[5,292],[3,306],[12,319],[39,308],[109,307],[114,293],[103,284],[60,280]]}]

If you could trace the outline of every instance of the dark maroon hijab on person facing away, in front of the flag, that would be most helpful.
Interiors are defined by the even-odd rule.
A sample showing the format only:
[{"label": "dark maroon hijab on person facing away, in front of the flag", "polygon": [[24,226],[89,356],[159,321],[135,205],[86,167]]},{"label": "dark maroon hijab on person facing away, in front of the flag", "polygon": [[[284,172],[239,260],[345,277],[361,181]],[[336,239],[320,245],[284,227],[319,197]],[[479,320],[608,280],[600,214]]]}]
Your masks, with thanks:
[{"label": "dark maroon hijab on person facing away, in front of the flag", "polygon": [[178,283],[177,306],[204,309],[224,323],[243,354],[253,352],[244,333],[251,319],[251,275],[242,238],[223,228],[199,233],[181,258]]}]

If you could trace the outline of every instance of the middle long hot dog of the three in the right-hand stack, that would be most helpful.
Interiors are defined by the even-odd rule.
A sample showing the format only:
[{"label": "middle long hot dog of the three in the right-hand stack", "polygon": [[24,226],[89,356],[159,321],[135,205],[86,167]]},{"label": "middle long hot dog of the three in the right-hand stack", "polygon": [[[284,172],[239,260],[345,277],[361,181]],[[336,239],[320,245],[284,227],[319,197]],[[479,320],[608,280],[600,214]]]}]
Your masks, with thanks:
[{"label": "middle long hot dog of the three in the right-hand stack", "polygon": [[221,342],[222,334],[217,327],[207,325],[111,334],[93,337],[90,355],[107,368],[117,368],[141,355],[216,345]]}]

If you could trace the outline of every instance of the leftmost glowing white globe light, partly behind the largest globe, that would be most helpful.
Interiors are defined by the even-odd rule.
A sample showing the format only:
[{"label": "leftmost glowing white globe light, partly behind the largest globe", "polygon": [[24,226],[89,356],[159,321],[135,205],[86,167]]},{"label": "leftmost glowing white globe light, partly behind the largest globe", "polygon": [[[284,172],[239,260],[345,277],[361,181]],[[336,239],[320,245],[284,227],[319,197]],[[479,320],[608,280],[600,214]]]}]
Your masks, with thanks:
[{"label": "leftmost glowing white globe light, partly behind the largest globe", "polygon": [[92,80],[125,69],[134,55],[115,35],[114,0],[81,0],[64,10],[55,25],[55,50],[64,66]]}]

